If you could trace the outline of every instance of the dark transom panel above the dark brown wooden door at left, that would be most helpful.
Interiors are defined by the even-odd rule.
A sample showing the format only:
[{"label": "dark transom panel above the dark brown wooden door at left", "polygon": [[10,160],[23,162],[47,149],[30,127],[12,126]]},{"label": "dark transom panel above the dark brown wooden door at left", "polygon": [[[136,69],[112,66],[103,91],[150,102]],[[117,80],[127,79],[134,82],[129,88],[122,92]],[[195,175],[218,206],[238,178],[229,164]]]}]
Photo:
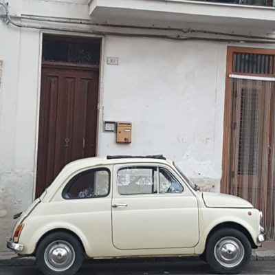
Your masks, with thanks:
[{"label": "dark transom panel above the dark brown wooden door at left", "polygon": [[100,44],[43,41],[43,61],[99,65]]}]

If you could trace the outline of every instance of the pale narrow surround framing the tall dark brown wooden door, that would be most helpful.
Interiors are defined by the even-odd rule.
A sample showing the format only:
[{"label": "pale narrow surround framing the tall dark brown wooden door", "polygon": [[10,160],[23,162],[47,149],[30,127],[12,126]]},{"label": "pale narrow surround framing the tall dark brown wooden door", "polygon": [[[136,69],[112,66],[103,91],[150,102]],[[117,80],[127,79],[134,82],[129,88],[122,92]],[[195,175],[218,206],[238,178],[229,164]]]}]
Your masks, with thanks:
[{"label": "pale narrow surround framing the tall dark brown wooden door", "polygon": [[102,117],[102,93],[100,92],[102,89],[102,78],[103,78],[103,68],[104,68],[104,43],[105,38],[102,35],[94,35],[94,34],[83,34],[83,33],[69,33],[68,32],[51,32],[51,31],[41,31],[39,33],[39,62],[38,62],[38,81],[37,81],[37,100],[36,100],[36,124],[35,124],[35,148],[34,148],[34,177],[33,177],[33,188],[32,188],[32,201],[35,199],[36,194],[36,177],[37,177],[37,161],[38,161],[38,148],[39,148],[39,114],[40,114],[40,102],[41,102],[41,72],[42,72],[42,53],[43,53],[43,37],[44,36],[63,36],[64,38],[78,38],[78,39],[98,39],[100,40],[100,64],[98,68],[98,112],[97,112],[97,126],[96,126],[96,155],[98,155],[98,146],[99,146],[99,133],[100,129],[102,129],[102,125],[100,124],[100,118]]}]

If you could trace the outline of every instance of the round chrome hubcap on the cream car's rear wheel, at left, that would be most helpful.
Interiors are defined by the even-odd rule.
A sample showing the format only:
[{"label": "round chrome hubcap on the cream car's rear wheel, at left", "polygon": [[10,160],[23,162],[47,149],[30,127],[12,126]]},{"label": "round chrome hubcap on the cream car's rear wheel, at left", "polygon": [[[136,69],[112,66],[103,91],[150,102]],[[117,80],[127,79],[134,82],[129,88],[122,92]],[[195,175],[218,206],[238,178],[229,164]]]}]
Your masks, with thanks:
[{"label": "round chrome hubcap on the cream car's rear wheel, at left", "polygon": [[51,270],[62,272],[72,266],[76,254],[67,241],[53,241],[45,249],[44,259]]}]

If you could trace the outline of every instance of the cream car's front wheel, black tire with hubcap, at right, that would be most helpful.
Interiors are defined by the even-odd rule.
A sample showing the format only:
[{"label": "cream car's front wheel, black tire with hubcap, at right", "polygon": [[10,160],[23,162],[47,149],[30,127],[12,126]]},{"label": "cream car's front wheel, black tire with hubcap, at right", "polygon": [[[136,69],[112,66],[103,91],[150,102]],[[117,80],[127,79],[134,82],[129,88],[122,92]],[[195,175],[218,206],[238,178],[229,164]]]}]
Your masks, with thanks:
[{"label": "cream car's front wheel, black tire with hubcap, at right", "polygon": [[250,262],[251,244],[243,232],[222,228],[206,244],[206,261],[214,272],[237,274]]}]

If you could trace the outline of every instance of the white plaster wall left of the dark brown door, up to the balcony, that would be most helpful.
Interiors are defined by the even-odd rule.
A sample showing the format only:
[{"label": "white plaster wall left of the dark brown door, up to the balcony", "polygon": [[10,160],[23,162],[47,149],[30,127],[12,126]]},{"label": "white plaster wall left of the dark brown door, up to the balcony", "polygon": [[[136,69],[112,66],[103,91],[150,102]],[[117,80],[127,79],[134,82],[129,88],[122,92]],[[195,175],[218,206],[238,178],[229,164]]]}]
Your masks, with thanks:
[{"label": "white plaster wall left of the dark brown door, up to the balcony", "polygon": [[[10,0],[10,14],[89,18],[87,1]],[[3,8],[0,8],[3,14]],[[0,21],[0,259],[14,220],[33,200],[41,32]]]}]

